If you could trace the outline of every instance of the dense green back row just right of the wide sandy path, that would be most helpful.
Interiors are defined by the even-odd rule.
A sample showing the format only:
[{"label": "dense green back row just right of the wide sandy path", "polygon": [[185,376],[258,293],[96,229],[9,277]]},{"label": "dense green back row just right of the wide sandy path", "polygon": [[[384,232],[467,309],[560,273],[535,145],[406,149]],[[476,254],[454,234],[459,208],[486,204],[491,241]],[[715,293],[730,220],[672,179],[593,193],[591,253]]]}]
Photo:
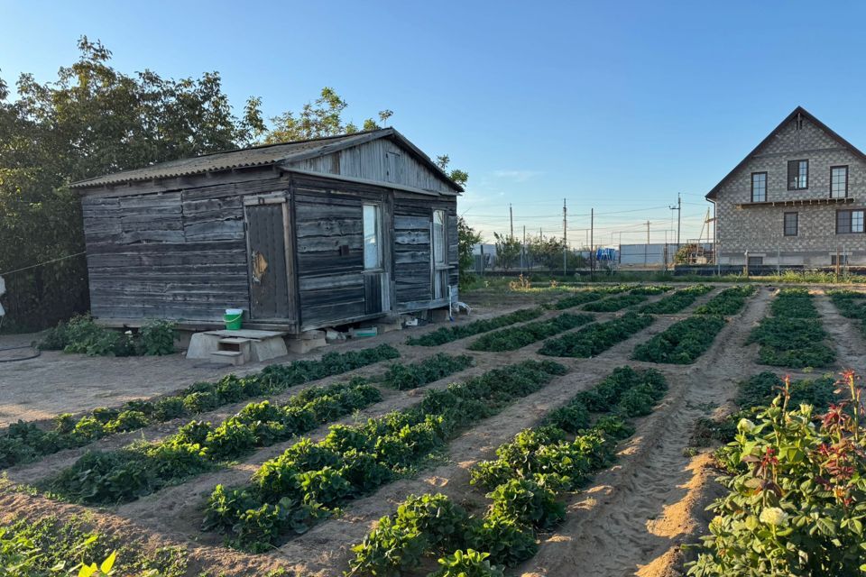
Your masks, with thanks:
[{"label": "dense green back row just right of the wide sandy path", "polygon": [[807,289],[782,289],[770,315],[752,329],[747,344],[759,343],[758,362],[778,367],[828,367],[836,358],[825,342],[813,296]]}]

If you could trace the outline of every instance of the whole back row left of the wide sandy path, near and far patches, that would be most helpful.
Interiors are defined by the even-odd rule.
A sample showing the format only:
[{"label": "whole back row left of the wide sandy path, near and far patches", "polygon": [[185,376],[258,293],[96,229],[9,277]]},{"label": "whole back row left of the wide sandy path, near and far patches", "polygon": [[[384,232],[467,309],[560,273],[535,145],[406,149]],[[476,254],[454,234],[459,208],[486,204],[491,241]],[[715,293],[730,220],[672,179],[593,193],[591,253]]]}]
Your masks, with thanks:
[{"label": "whole back row left of the wide sandy path, near and far patches", "polygon": [[736,315],[754,294],[754,287],[724,289],[701,307],[694,316],[670,325],[634,349],[638,361],[691,364],[706,352],[725,325],[724,316]]}]

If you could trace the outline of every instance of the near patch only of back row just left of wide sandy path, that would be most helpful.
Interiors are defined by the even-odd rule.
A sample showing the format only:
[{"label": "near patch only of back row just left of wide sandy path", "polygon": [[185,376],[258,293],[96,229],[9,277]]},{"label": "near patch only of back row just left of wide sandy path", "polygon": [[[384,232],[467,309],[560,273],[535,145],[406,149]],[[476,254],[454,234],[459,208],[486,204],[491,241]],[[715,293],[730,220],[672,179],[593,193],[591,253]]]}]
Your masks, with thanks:
[{"label": "near patch only of back row just left of wide sandy path", "polygon": [[691,364],[710,348],[724,324],[722,316],[689,316],[636,346],[632,358],[647,362]]}]

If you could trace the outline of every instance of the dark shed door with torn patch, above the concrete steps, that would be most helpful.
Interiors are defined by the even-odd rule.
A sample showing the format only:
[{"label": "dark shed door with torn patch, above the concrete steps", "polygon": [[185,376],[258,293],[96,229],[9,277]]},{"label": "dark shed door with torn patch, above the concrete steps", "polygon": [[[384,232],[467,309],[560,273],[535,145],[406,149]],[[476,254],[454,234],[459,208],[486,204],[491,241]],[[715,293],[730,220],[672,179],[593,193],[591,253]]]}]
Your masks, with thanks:
[{"label": "dark shed door with torn patch, above the concrete steps", "polygon": [[290,318],[290,282],[286,266],[287,203],[284,198],[269,198],[266,204],[250,204],[245,208],[250,316],[258,319]]}]

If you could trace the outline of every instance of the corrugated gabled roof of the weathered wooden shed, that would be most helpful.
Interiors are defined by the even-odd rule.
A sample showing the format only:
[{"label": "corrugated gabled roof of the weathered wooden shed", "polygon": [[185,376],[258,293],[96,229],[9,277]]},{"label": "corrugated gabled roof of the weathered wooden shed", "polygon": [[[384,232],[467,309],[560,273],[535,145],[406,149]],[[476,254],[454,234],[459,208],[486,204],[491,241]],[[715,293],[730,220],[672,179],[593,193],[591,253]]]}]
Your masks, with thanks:
[{"label": "corrugated gabled roof of the weathered wooden shed", "polygon": [[331,152],[341,151],[380,138],[390,138],[394,142],[399,143],[403,148],[410,151],[417,160],[426,165],[428,169],[436,173],[447,185],[454,188],[457,192],[463,192],[463,188],[450,179],[445,171],[438,167],[436,162],[430,160],[427,154],[420,151],[409,139],[393,128],[340,134],[306,141],[264,144],[262,146],[253,146],[234,151],[211,152],[210,154],[203,154],[188,159],[158,162],[141,169],[124,170],[94,179],[79,180],[69,186],[70,188],[102,187],[126,182],[190,176],[218,170],[270,166],[287,161],[291,162],[324,156]]}]

